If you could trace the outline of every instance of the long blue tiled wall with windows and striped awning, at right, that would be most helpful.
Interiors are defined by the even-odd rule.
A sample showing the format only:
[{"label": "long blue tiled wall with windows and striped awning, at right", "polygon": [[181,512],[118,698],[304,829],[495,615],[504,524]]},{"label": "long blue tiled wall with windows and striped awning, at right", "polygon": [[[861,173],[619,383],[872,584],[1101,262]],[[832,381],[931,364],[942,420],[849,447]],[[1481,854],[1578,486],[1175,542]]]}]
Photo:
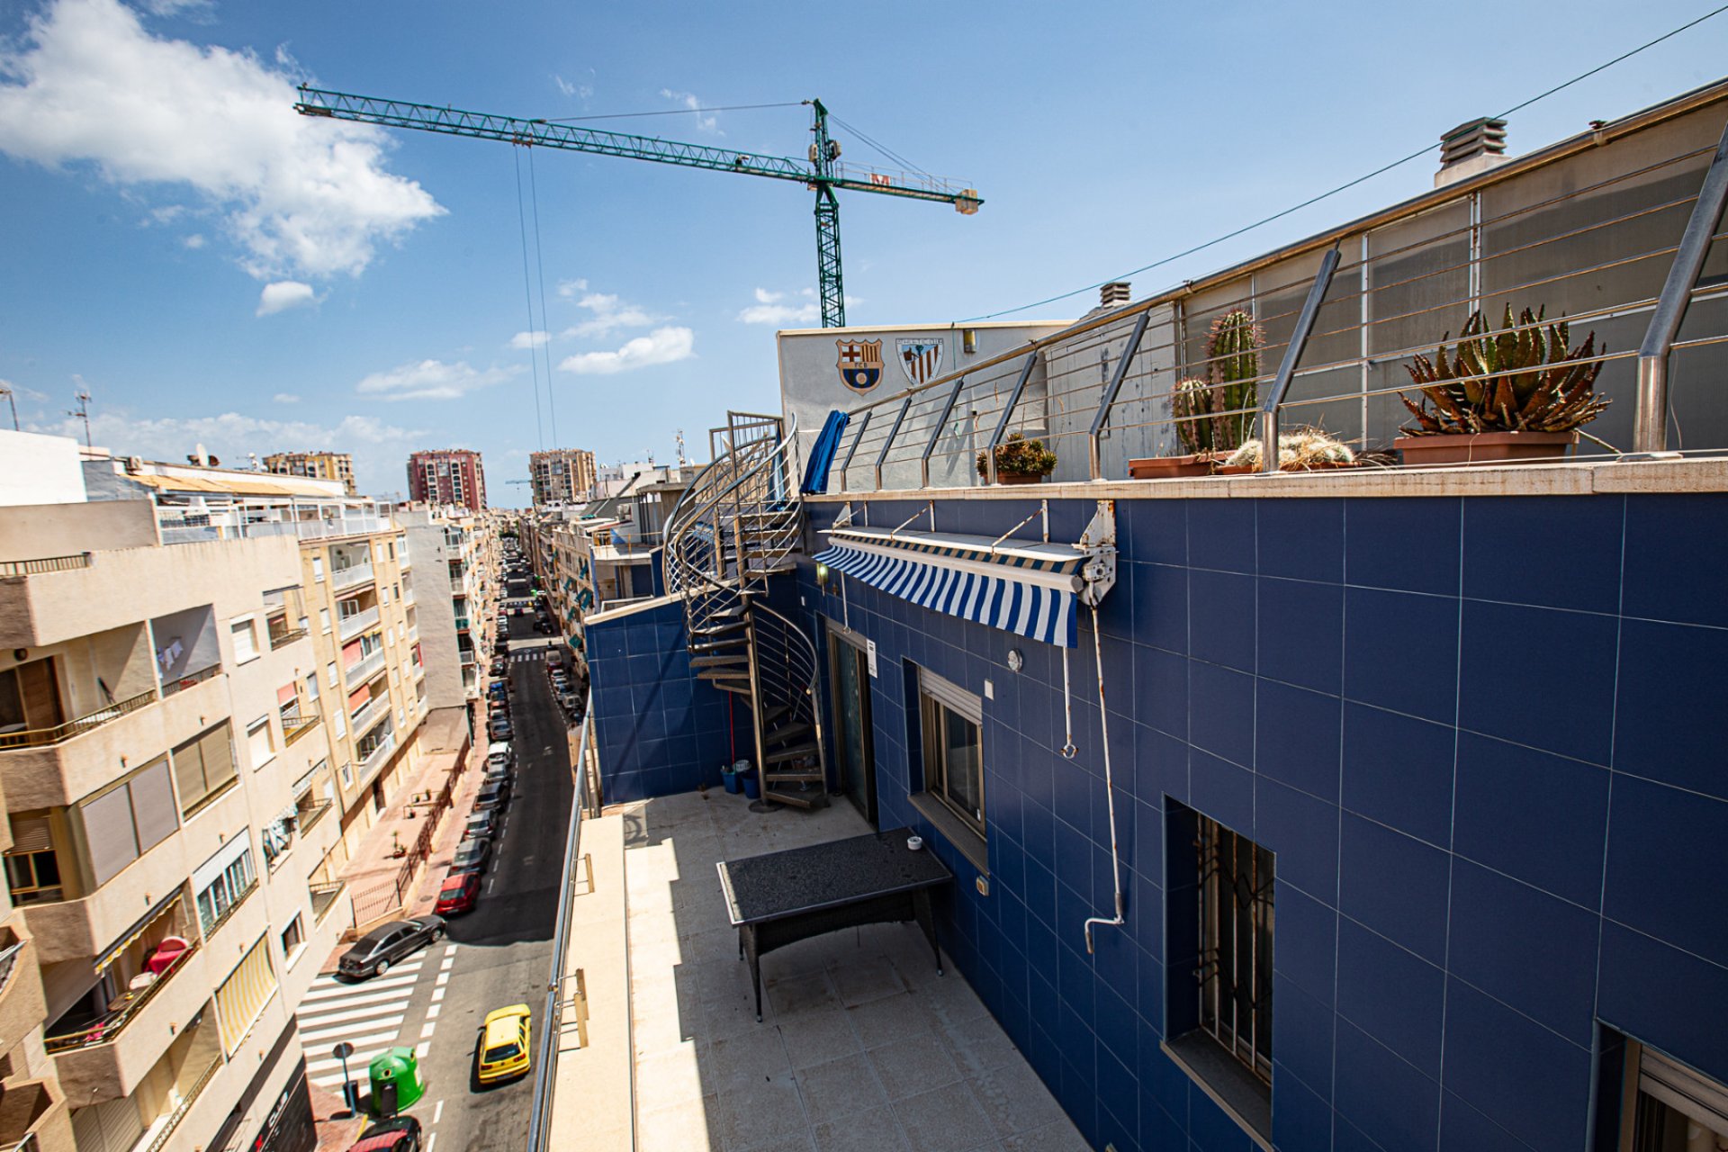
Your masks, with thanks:
[{"label": "long blue tiled wall with windows and striped awning, at right", "polygon": [[[937,527],[1033,508],[940,503]],[[1052,504],[1052,539],[1090,513]],[[1277,853],[1279,1149],[1578,1152],[1602,1026],[1728,1079],[1728,496],[1140,499],[1118,525],[1099,625],[1128,924],[1097,955],[1090,620],[1066,760],[1058,649],[798,577],[812,627],[876,641],[881,826],[956,870],[945,945],[1094,1147],[1253,1147],[1159,1050],[1165,924],[1191,907],[1163,891],[1172,801]],[[988,896],[907,803],[905,660],[994,686]]]}]

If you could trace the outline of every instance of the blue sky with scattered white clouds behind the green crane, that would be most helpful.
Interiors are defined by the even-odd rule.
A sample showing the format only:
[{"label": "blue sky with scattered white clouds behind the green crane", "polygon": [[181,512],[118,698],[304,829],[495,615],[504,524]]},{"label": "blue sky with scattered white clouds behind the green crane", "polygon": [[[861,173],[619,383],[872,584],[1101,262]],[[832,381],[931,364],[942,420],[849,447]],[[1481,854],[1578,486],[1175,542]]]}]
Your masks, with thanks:
[{"label": "blue sky with scattered white clouds behind the green crane", "polygon": [[[843,195],[848,320],[949,321],[1258,219],[1711,7],[14,2],[0,380],[26,427],[73,432],[86,387],[116,451],[328,446],[378,494],[415,447],[477,447],[492,503],[525,503],[505,482],[541,444],[664,461],[677,428],[702,446],[727,408],[778,408],[774,328],[817,323],[810,195],[574,152],[530,169],[501,143],[297,117],[294,83],[543,117],[821,97],[985,197],[964,218]],[[1725,47],[1728,14],[1519,112],[1510,150],[1718,79]],[[593,126],[809,142],[802,107]],[[1419,193],[1434,164],[1137,276],[1135,295]]]}]

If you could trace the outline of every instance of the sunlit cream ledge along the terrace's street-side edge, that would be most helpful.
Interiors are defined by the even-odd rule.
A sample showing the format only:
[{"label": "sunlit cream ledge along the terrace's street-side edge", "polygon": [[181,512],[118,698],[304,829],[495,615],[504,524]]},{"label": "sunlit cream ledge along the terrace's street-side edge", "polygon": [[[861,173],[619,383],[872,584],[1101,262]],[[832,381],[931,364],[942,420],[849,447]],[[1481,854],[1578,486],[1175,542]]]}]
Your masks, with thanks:
[{"label": "sunlit cream ledge along the terrace's street-side edge", "polygon": [[[636,1147],[624,817],[610,813],[582,820],[582,857],[570,900],[550,1147],[617,1152]],[[577,971],[588,993],[586,1024],[579,1022],[572,1003]]]}]

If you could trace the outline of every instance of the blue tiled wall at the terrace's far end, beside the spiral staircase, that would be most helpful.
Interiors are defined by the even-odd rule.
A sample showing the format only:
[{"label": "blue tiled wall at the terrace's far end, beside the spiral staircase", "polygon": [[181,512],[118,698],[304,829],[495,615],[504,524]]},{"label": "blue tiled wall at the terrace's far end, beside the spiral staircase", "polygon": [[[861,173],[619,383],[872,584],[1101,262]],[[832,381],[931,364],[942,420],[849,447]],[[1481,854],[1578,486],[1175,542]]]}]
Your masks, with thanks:
[{"label": "blue tiled wall at the terrace's far end, beside the spiral staircase", "polygon": [[[683,608],[658,604],[589,622],[588,646],[607,803],[717,786],[731,755],[731,701],[691,670]],[[740,720],[746,732],[741,712]]]}]

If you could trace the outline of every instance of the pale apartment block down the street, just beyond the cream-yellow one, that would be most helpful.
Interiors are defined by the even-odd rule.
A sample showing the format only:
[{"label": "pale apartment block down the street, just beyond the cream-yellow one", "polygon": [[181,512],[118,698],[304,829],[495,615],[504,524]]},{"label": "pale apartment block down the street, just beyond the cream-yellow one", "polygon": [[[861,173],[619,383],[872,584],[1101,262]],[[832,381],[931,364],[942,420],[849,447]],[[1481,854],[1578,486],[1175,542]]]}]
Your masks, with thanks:
[{"label": "pale apartment block down the street, just beyond the cream-yellow one", "polygon": [[415,604],[434,710],[479,699],[498,608],[498,532],[467,508],[397,508],[425,594]]}]

